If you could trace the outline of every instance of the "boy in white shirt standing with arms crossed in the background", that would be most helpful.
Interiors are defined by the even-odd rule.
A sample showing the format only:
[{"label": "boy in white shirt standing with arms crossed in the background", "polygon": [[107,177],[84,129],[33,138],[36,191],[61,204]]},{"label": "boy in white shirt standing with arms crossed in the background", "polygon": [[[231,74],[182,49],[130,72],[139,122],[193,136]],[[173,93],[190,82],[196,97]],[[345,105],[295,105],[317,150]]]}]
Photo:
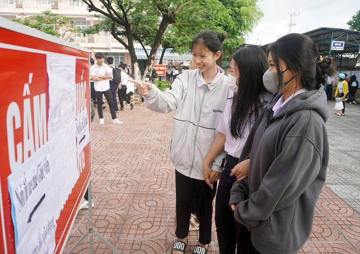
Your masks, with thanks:
[{"label": "boy in white shirt standing with arms crossed in the background", "polygon": [[99,103],[103,100],[103,94],[105,95],[106,101],[109,105],[111,117],[114,124],[122,124],[116,117],[114,103],[111,97],[110,91],[110,73],[112,69],[104,63],[104,54],[101,52],[95,53],[96,64],[90,68],[90,76],[94,81],[94,89],[96,94],[96,100],[98,101],[98,114],[100,118],[99,124],[104,124],[103,108],[102,104]]}]

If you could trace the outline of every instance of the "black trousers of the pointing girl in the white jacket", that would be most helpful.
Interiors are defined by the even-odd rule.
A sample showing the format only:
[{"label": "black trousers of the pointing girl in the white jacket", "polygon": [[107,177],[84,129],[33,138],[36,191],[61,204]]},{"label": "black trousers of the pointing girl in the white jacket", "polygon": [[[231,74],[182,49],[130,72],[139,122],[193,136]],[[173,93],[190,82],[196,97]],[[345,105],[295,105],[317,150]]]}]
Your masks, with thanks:
[{"label": "black trousers of the pointing girl in the white jacket", "polygon": [[[200,221],[199,242],[210,244],[212,224],[212,201],[214,191],[204,180],[198,180],[175,170],[176,181],[176,230],[175,235],[183,239],[189,235],[191,203],[194,201]],[[216,191],[217,182],[213,183]]]}]

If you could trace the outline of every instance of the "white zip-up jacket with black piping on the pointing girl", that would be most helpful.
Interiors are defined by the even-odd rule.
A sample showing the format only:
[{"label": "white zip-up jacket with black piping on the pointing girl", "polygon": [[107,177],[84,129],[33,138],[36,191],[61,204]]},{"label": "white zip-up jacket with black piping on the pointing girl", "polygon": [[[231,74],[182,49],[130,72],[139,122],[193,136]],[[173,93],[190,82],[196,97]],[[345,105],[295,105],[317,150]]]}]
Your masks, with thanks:
[{"label": "white zip-up jacket with black piping on the pointing girl", "polygon": [[[205,84],[199,70],[181,73],[171,85],[172,90],[161,92],[152,85],[144,96],[145,105],[152,111],[169,113],[176,110],[172,126],[170,158],[179,173],[204,180],[203,161],[218,133],[216,128],[231,91],[227,77],[218,67],[220,75],[211,84]],[[222,172],[222,151],[210,165]]]}]

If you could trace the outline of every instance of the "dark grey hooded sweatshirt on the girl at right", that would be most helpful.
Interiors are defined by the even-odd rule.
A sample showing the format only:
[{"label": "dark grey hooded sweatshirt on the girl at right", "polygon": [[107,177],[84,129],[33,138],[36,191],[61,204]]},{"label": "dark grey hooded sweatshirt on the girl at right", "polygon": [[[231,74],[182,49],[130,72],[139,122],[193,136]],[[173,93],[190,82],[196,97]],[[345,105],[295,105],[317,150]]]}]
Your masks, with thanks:
[{"label": "dark grey hooded sweatshirt on the girl at right", "polygon": [[305,244],[329,161],[324,89],[296,95],[273,117],[281,96],[270,97],[251,129],[240,156],[250,158],[249,177],[234,183],[229,202],[262,254],[295,254]]}]

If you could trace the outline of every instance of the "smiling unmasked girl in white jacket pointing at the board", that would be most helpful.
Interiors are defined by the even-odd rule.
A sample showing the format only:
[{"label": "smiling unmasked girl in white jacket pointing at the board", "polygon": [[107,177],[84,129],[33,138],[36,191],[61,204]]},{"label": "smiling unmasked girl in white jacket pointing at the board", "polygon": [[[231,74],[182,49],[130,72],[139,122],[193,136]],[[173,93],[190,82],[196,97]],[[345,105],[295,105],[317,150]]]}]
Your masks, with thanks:
[{"label": "smiling unmasked girl in white jacket pointing at the board", "polygon": [[[175,168],[176,231],[179,238],[172,248],[173,254],[184,254],[188,244],[191,204],[200,221],[198,244],[193,253],[206,254],[211,242],[213,190],[204,181],[202,164],[217,134],[226,99],[230,95],[227,77],[216,65],[221,56],[224,35],[201,31],[192,42],[193,62],[196,70],[179,74],[172,89],[161,92],[149,82],[131,80],[138,84],[145,106],[152,111],[168,113],[175,110],[170,144],[170,158]],[[220,176],[225,152],[221,152],[209,165],[215,178]]]}]

